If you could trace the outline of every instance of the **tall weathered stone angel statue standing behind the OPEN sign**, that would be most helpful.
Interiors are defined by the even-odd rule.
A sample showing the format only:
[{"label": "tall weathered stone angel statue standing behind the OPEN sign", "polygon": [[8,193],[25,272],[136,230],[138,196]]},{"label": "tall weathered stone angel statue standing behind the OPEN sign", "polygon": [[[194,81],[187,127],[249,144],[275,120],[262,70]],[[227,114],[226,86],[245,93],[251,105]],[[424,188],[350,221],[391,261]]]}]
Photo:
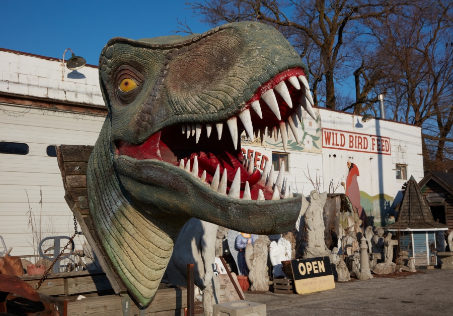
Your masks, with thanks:
[{"label": "tall weathered stone angel statue standing behind the OPEN sign", "polygon": [[305,257],[310,258],[331,254],[324,240],[323,207],[326,200],[327,192],[321,194],[317,190],[310,192],[310,205],[305,213],[308,237]]}]

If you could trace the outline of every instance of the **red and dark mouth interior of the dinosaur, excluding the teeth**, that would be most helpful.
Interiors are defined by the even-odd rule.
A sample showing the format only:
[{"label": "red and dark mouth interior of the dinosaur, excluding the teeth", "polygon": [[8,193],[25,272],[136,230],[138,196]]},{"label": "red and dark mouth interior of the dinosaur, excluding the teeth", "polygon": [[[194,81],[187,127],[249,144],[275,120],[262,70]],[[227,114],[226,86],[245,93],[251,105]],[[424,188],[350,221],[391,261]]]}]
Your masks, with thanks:
[{"label": "red and dark mouth interior of the dinosaur, excluding the teeth", "polygon": [[[260,100],[262,93],[273,88],[279,82],[287,80],[291,76],[299,75],[305,75],[304,71],[299,68],[289,69],[279,73],[258,89],[255,95],[247,102],[246,107],[250,107],[250,104],[253,101]],[[296,90],[287,81],[285,81],[285,83],[291,95],[293,104],[292,109],[289,108],[283,98],[275,92],[280,109],[281,120],[283,122],[286,121],[289,115],[294,111],[294,108],[298,104],[301,90],[304,89],[301,88],[301,90]],[[254,110],[250,110],[254,130],[263,127],[268,127],[269,129],[273,126],[278,127],[279,120],[273,114],[271,109],[263,100],[260,100],[259,102],[261,105],[263,119],[260,119]],[[244,126],[239,118],[237,121],[239,134],[241,134],[244,130]],[[240,139],[239,136],[238,139]],[[215,124],[212,125],[212,132],[209,138],[206,134],[206,128],[203,125],[201,136],[197,144],[195,143],[195,137],[191,136],[187,139],[186,134],[182,134],[181,125],[174,125],[155,133],[142,144],[136,145],[125,141],[117,141],[116,147],[116,154],[118,155],[127,155],[139,160],[157,159],[171,163],[175,166],[179,166],[181,159],[184,160],[184,165],[186,165],[187,161],[190,160],[190,165],[193,166],[194,157],[196,155],[198,160],[198,177],[201,177],[203,171],[206,170],[206,182],[208,184],[212,181],[217,165],[219,165],[220,168],[220,177],[223,174],[223,170],[226,169],[228,175],[227,194],[230,191],[230,186],[239,168],[241,171],[240,198],[244,195],[246,181],[249,182],[252,199],[256,200],[258,198],[259,189],[263,191],[266,200],[270,200],[272,198],[272,188],[258,183],[261,177],[260,170],[256,169],[252,173],[249,173],[242,165],[244,156],[241,151],[241,144],[238,144],[238,149],[234,148],[230,130],[226,124],[223,124],[223,131],[220,140],[218,140]]]}]

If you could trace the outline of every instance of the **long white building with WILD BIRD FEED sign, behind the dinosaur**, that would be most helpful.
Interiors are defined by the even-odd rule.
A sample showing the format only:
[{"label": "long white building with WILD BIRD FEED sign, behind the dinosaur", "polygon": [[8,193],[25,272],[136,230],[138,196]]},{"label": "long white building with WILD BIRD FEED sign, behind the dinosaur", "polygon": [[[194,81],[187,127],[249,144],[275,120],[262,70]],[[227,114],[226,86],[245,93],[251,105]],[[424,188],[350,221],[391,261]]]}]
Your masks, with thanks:
[{"label": "long white building with WILD BIRD FEED sign, behind the dinosaur", "polygon": [[[287,161],[288,183],[305,195],[314,189],[309,177],[320,191],[344,193],[344,182],[360,195],[361,207],[376,225],[388,224],[406,179],[423,178],[420,128],[377,119],[361,123],[360,117],[326,109],[315,112],[318,121],[304,112],[301,143],[290,135],[286,153],[281,138],[266,138],[263,146],[259,139],[253,144],[244,140],[244,153],[261,170],[263,161],[276,166]],[[34,253],[30,213],[35,247],[47,236],[72,235],[72,214],[52,147],[94,145],[105,115],[97,66],[71,72],[55,58],[0,49],[0,152],[2,146],[22,151],[0,153],[0,235],[14,247],[13,255]],[[351,173],[352,184],[348,162],[359,170],[357,177]],[[82,236],[77,239],[83,242]]]}]

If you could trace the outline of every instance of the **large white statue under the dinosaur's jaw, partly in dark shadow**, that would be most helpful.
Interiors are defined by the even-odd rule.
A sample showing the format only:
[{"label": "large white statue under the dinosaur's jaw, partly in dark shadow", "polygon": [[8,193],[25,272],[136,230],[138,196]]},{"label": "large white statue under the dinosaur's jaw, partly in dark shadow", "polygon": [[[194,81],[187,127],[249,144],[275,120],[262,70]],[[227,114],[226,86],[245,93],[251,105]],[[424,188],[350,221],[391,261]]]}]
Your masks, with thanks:
[{"label": "large white statue under the dinosaur's jaw, partly in dark shadow", "polygon": [[[181,229],[167,267],[169,283],[187,286],[187,264],[194,264],[195,285],[203,292],[205,315],[212,316],[212,306],[219,303],[214,297],[213,263],[218,226],[198,219],[190,219]],[[217,293],[216,293],[217,294]]]}]

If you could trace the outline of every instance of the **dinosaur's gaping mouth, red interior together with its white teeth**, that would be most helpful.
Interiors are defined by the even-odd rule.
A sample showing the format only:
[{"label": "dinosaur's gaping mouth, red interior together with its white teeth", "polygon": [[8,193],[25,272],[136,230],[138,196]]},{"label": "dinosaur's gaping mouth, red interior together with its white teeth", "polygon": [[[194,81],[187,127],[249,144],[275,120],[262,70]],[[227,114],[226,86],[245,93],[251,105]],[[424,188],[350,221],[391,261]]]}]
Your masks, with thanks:
[{"label": "dinosaur's gaping mouth, red interior together with its white teeth", "polygon": [[[305,97],[308,89],[304,86],[304,78],[304,71],[300,68],[285,70],[258,88],[235,116],[226,122],[204,124],[206,133],[202,132],[203,125],[198,123],[173,125],[139,145],[115,142],[115,154],[137,160],[156,159],[179,166],[222,195],[252,200],[282,198],[283,191],[275,193],[273,183],[266,185],[267,174],[261,176],[251,164],[246,168],[239,136],[245,130],[253,141],[254,132],[258,134],[259,130],[263,138],[267,127],[275,133],[274,136],[280,132],[285,141],[282,132],[288,126],[298,141],[292,127],[294,124],[297,126],[295,121],[301,119],[301,106],[314,116],[307,105],[310,102]],[[269,169],[273,172],[273,168]],[[292,194],[286,196],[292,198]]]}]

